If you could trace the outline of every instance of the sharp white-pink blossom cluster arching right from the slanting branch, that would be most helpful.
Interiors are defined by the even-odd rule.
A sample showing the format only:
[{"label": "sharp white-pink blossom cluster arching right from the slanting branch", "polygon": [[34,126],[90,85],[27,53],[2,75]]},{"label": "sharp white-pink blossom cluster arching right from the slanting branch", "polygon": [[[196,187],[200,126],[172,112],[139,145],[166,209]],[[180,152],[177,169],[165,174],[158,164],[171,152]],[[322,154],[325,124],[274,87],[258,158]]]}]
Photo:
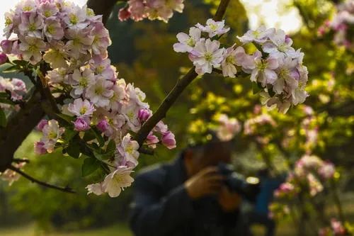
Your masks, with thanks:
[{"label": "sharp white-pink blossom cluster arching right from the slanting branch", "polygon": [[198,23],[190,28],[189,35],[178,33],[179,43],[173,49],[188,52],[195,72],[200,75],[222,69],[224,77],[236,77],[241,67],[243,72],[251,74],[251,82],[263,89],[262,102],[268,107],[277,106],[283,113],[291,104],[305,101],[308,72],[302,64],[304,53],[291,47],[292,40],[283,30],[261,26],[238,37],[241,43],[256,46],[256,52],[251,55],[242,46],[220,47],[218,39],[228,31],[224,21],[209,19],[206,26]]}]

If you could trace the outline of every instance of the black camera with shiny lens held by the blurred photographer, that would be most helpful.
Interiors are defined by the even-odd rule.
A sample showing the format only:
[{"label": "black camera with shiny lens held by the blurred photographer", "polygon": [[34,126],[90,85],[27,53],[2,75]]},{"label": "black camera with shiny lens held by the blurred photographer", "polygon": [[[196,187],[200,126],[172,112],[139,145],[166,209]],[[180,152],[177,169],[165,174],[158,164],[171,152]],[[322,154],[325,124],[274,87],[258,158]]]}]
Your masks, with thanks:
[{"label": "black camera with shiny lens held by the blurred photographer", "polygon": [[224,184],[230,191],[239,193],[243,198],[254,202],[260,191],[260,181],[257,177],[249,176],[245,178],[242,174],[234,171],[231,164],[220,162],[217,165],[220,174],[224,176]]}]

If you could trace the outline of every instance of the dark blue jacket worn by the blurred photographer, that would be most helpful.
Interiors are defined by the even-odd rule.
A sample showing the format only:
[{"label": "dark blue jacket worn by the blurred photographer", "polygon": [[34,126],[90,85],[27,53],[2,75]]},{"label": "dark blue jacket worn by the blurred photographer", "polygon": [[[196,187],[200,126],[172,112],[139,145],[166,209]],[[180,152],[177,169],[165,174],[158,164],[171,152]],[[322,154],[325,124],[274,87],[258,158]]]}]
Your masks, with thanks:
[{"label": "dark blue jacket worn by the blurred photographer", "polygon": [[223,213],[215,197],[192,201],[183,159],[149,168],[134,183],[130,226],[136,236],[235,236],[238,212]]}]

